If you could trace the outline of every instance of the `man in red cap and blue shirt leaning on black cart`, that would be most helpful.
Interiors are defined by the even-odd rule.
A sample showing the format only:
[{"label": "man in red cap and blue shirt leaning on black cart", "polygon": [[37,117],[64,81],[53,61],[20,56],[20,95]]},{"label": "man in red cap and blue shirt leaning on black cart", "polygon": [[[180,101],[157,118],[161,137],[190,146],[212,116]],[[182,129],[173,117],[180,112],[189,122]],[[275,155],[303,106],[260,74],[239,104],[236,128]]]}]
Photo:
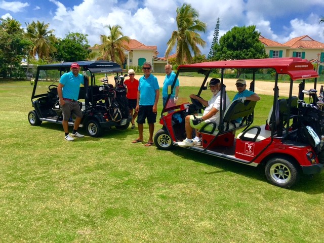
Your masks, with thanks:
[{"label": "man in red cap and blue shirt leaning on black cart", "polygon": [[[84,76],[80,74],[79,71],[79,64],[76,62],[72,63],[71,71],[64,73],[61,76],[59,86],[57,87],[59,103],[63,115],[62,125],[65,133],[65,140],[67,141],[73,141],[74,138],[84,137],[84,135],[77,132],[83,116],[77,98],[79,95],[80,84],[85,85]],[[71,117],[71,113],[73,113],[76,118],[74,120],[73,132],[70,135],[68,131],[68,120]]]}]

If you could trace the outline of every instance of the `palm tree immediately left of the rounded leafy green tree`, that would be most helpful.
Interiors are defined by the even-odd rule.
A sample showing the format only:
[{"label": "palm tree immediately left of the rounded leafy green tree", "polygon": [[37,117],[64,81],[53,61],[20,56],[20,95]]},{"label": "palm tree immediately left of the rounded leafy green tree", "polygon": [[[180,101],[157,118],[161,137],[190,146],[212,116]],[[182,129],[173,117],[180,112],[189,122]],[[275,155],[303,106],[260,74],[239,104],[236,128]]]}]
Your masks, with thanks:
[{"label": "palm tree immediately left of the rounded leafy green tree", "polygon": [[37,55],[38,58],[44,60],[48,59],[52,52],[56,51],[54,43],[58,42],[57,38],[53,34],[54,29],[48,30],[49,24],[44,22],[27,24],[26,36],[33,43],[29,55],[33,58]]}]

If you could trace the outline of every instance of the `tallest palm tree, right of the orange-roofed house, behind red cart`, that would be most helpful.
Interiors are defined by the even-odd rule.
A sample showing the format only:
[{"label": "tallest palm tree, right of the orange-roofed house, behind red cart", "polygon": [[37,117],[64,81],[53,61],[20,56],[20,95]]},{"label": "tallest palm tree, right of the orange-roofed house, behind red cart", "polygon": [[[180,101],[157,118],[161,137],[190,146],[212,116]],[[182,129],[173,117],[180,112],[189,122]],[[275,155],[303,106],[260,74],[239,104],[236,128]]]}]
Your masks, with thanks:
[{"label": "tallest palm tree, right of the orange-roofed house, behind red cart", "polygon": [[191,52],[194,56],[201,54],[198,45],[206,46],[206,42],[197,32],[206,31],[207,24],[198,19],[198,12],[190,4],[183,4],[177,8],[177,26],[178,30],[172,32],[167,45],[165,56],[168,57],[175,45],[176,61],[182,64],[184,61],[192,63]]}]

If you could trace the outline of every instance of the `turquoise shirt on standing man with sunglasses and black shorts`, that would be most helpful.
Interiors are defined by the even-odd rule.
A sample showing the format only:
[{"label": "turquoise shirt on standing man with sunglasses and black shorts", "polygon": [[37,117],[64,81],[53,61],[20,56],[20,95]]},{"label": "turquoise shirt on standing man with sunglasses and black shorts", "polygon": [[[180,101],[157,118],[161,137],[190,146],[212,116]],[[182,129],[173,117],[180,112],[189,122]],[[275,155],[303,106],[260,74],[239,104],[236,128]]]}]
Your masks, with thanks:
[{"label": "turquoise shirt on standing man with sunglasses and black shorts", "polygon": [[148,78],[145,78],[144,75],[141,76],[138,85],[140,92],[139,105],[154,105],[155,91],[159,88],[157,78],[153,74],[150,74]]}]

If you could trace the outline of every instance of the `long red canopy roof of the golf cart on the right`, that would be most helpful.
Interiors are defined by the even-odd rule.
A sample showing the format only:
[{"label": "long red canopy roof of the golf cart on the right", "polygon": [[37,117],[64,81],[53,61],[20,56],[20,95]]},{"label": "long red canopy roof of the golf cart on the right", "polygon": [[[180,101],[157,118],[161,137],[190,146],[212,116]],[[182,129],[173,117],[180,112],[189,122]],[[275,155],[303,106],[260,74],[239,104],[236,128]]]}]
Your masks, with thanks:
[{"label": "long red canopy roof of the golf cart on the right", "polygon": [[273,68],[278,74],[290,75],[293,80],[318,77],[313,65],[308,60],[297,57],[201,62],[180,65],[178,71],[210,68]]}]

